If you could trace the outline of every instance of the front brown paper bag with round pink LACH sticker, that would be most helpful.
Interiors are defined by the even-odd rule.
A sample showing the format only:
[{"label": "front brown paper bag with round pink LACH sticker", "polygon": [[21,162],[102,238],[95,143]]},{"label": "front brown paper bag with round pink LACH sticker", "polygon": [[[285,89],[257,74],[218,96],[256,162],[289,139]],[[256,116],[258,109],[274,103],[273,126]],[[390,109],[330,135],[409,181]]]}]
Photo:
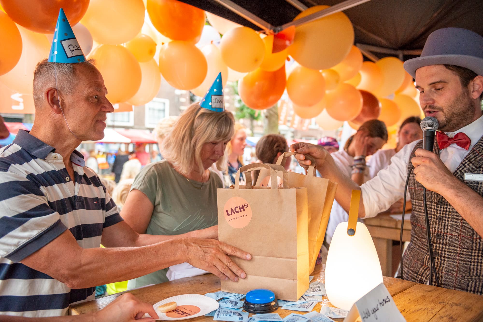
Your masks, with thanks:
[{"label": "front brown paper bag with round pink LACH sticker", "polygon": [[[271,188],[252,186],[251,172],[261,169],[269,171]],[[307,188],[289,188],[281,166],[253,163],[240,171],[246,174],[246,186],[240,186],[238,173],[234,189],[218,189],[218,238],[252,259],[232,257],[247,277],[221,281],[221,289],[246,294],[267,288],[279,299],[297,301],[309,288]]]}]

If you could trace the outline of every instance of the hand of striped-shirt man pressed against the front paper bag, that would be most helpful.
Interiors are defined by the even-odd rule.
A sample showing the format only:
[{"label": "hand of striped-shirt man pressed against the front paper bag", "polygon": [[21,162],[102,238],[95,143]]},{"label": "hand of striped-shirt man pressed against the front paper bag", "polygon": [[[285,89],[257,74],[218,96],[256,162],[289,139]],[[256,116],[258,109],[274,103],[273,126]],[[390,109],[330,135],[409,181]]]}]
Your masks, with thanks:
[{"label": "hand of striped-shirt man pressed against the front paper bag", "polygon": [[207,270],[222,280],[238,282],[239,277],[246,277],[245,272],[227,255],[252,259],[247,252],[213,239],[185,238],[183,243],[187,248],[186,262],[194,267]]}]

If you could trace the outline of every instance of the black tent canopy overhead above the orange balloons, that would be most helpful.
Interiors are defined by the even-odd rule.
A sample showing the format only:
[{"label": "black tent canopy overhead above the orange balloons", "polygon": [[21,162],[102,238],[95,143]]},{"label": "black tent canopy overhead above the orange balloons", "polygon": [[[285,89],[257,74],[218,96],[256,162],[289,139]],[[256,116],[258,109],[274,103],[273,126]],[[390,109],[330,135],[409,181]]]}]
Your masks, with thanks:
[{"label": "black tent canopy overhead above the orange balloons", "polygon": [[466,28],[483,36],[483,0],[182,1],[255,30],[263,27],[250,17],[245,19],[243,12],[268,26],[281,27],[314,5],[349,7],[343,12],[354,26],[355,44],[372,60],[388,55],[402,60],[416,57],[427,36],[439,28]]}]

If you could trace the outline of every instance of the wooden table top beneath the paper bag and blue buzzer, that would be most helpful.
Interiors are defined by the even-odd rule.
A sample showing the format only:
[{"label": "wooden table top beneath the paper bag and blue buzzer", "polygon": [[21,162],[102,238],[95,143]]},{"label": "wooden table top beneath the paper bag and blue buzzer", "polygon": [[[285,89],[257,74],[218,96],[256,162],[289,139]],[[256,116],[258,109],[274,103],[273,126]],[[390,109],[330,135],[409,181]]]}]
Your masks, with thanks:
[{"label": "wooden table top beneath the paper bag and blue buzzer", "polygon": [[[324,282],[324,273],[324,268],[321,265],[317,265],[312,274],[314,275],[313,281]],[[483,296],[402,281],[391,277],[384,277],[384,285],[389,290],[398,309],[408,322],[483,321]],[[141,301],[155,304],[170,296],[192,293],[204,295],[208,292],[216,291],[220,291],[220,279],[213,274],[206,274],[156,284],[132,290],[129,293],[137,296]],[[69,310],[70,314],[77,315],[97,311],[114,301],[120,294],[122,293],[73,305]],[[323,301],[319,302],[313,310],[320,311],[321,306],[332,307],[326,296],[324,296]],[[307,313],[286,309],[277,309],[276,311],[282,318],[292,312],[298,314]],[[342,321],[343,319],[333,320]],[[200,316],[190,321],[212,322],[213,317]],[[360,317],[357,321],[361,321]]]}]

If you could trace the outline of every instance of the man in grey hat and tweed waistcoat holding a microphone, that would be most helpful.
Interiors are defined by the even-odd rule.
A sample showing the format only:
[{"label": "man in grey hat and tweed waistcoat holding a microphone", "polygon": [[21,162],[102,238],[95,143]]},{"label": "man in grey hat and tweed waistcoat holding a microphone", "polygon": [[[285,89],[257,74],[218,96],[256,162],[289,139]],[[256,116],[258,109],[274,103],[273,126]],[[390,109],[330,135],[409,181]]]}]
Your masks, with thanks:
[{"label": "man in grey hat and tweed waistcoat holding a microphone", "polygon": [[[461,28],[434,31],[421,57],[405,69],[416,80],[426,116],[439,121],[433,152],[421,140],[406,145],[391,165],[360,188],[323,148],[291,146],[305,166],[315,160],[325,177],[338,182],[336,200],[349,210],[351,190],[362,191],[359,217],[373,217],[404,195],[411,163],[411,242],[404,253],[404,279],[427,283],[431,268],[426,241],[423,187],[436,271],[442,287],[483,294],[483,37]],[[306,160],[307,159],[307,160]],[[471,181],[468,178],[471,178]],[[434,284],[433,281],[429,281]]]}]

